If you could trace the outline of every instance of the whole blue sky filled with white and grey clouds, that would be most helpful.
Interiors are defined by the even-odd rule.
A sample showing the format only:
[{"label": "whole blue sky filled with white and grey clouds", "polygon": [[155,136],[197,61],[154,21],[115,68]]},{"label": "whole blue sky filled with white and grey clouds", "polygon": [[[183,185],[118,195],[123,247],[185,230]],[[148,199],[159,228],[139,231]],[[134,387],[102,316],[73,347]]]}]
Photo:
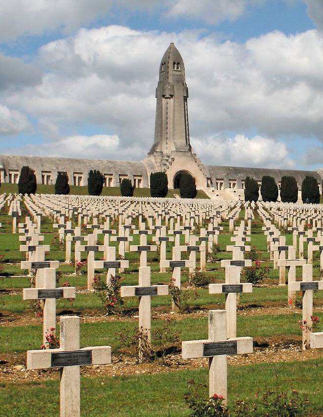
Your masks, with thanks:
[{"label": "whole blue sky filled with white and grey clouds", "polygon": [[323,168],[323,0],[0,1],[0,154],[143,159],[170,42],[204,164]]}]

